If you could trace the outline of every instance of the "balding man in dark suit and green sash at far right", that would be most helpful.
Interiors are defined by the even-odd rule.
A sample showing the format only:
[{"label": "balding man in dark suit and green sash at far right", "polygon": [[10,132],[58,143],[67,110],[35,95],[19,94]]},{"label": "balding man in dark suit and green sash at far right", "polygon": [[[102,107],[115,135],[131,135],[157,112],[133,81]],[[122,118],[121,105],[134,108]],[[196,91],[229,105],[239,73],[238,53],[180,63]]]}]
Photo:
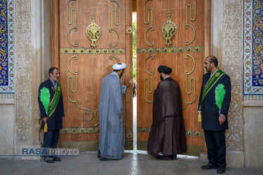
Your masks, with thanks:
[{"label": "balding man in dark suit and green sash at far right", "polygon": [[208,165],[201,169],[217,169],[226,172],[226,139],[228,129],[227,113],[231,102],[231,81],[224,71],[218,69],[217,58],[206,57],[204,67],[208,73],[203,75],[203,83],[198,104],[202,116],[202,128],[208,147]]}]

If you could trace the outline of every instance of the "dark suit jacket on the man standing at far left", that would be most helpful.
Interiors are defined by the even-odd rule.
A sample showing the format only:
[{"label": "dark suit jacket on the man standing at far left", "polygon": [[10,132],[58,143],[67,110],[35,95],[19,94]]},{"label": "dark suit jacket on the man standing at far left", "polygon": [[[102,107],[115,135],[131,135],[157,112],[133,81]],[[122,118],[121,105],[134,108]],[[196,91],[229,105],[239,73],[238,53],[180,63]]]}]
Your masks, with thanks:
[{"label": "dark suit jacket on the man standing at far left", "polygon": [[[47,87],[50,93],[50,102],[52,101],[55,91],[53,91],[52,87],[53,84],[51,82],[50,79],[44,81],[43,83],[41,83],[41,85],[39,86],[39,95],[40,95],[40,90],[43,87]],[[54,88],[55,90],[55,88]],[[39,109],[40,109],[40,116],[41,118],[46,118],[47,114],[46,114],[46,110],[42,104],[42,102],[40,101],[40,97],[39,97]],[[50,116],[50,118],[48,118],[48,130],[60,130],[62,129],[62,116],[64,115],[64,106],[63,106],[63,99],[62,99],[62,92],[60,93],[60,100],[58,101],[58,106],[55,108],[55,111],[52,113],[52,115]],[[42,126],[41,128],[43,129],[44,127],[44,123],[42,121]]]}]

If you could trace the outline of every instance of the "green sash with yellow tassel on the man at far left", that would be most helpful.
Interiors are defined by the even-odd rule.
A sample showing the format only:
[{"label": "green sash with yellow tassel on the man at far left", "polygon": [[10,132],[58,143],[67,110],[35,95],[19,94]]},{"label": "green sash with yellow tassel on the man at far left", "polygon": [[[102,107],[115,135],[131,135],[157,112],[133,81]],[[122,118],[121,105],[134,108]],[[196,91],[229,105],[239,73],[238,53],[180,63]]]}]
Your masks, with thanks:
[{"label": "green sash with yellow tassel on the man at far left", "polygon": [[[54,97],[48,106],[48,118],[50,118],[52,113],[55,111],[55,108],[58,106],[58,101],[60,100],[60,93],[61,93],[61,87],[60,87],[60,83],[58,83],[57,89],[55,90]],[[48,125],[47,124],[48,123],[45,124],[44,132],[48,132]]]}]

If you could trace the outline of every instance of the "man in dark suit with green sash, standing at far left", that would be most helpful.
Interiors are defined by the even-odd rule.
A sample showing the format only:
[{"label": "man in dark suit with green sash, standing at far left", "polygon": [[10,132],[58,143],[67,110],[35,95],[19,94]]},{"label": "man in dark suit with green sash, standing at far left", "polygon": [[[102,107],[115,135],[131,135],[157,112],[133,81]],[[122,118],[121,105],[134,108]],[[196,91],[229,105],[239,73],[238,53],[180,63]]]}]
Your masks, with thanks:
[{"label": "man in dark suit with green sash, standing at far left", "polygon": [[[61,93],[60,71],[56,67],[51,67],[48,71],[49,79],[39,86],[39,109],[42,119],[42,129],[44,129],[44,148],[57,148],[60,137],[60,129],[64,121],[64,107]],[[46,157],[48,163],[60,161],[58,157]]]}]

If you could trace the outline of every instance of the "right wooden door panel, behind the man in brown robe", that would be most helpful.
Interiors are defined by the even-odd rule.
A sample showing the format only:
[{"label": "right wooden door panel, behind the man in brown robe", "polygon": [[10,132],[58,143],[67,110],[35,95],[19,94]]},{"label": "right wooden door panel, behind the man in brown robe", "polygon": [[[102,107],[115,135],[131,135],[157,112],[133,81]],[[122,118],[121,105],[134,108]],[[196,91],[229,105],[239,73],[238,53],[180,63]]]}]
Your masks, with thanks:
[{"label": "right wooden door panel, behind the man in brown robe", "polygon": [[204,151],[196,116],[203,59],[209,54],[209,9],[208,1],[137,0],[137,149],[147,149],[157,68],[166,65],[181,89],[187,154]]}]

